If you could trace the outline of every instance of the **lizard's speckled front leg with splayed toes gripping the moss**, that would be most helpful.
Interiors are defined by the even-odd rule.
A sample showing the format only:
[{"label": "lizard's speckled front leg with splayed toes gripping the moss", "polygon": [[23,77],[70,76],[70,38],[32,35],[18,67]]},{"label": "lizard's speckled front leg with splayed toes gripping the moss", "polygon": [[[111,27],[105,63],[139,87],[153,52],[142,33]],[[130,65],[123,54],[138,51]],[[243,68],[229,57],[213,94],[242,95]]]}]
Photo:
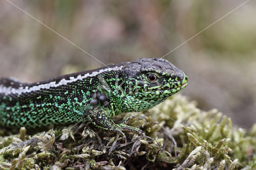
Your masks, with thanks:
[{"label": "lizard's speckled front leg with splayed toes gripping the moss", "polygon": [[144,132],[139,128],[130,127],[127,124],[134,119],[134,117],[128,117],[123,123],[115,124],[110,116],[108,115],[106,109],[100,107],[93,107],[87,111],[88,119],[98,128],[103,130],[110,130],[121,134],[125,140],[126,136],[122,131],[130,131],[136,134],[144,135]]}]

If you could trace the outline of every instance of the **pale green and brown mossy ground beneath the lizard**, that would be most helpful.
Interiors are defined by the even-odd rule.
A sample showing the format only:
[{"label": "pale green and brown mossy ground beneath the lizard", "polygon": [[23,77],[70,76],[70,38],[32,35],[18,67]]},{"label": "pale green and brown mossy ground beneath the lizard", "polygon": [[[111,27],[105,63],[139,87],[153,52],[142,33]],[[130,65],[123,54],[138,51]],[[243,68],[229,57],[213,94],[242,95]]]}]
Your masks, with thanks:
[{"label": "pale green and brown mossy ground beneath the lizard", "polygon": [[91,123],[33,135],[1,128],[0,169],[256,169],[256,125],[248,131],[235,127],[216,109],[202,111],[181,95],[113,120],[128,116],[137,118],[130,126],[146,136],[126,133],[127,144]]}]

